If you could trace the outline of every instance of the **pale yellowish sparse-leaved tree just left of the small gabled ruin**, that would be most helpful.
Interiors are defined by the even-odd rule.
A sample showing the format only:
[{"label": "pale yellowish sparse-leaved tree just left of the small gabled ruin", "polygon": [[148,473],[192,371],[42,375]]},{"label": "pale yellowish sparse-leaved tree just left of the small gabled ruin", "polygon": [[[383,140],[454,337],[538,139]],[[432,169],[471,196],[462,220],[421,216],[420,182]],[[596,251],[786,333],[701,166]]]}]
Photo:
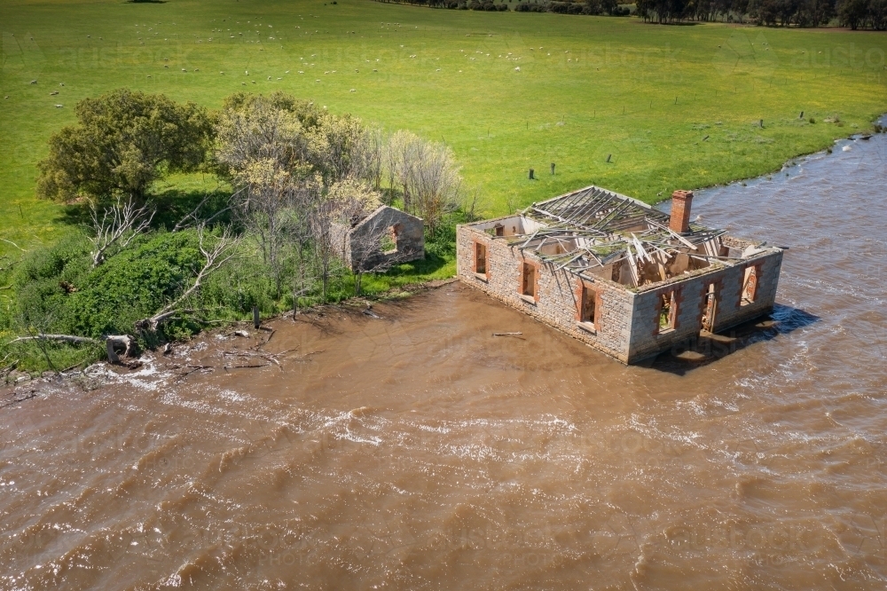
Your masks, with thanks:
[{"label": "pale yellowish sparse-leaved tree just left of the small gabled ruin", "polygon": [[367,193],[378,204],[366,185],[380,183],[380,133],[283,93],[237,94],[216,118],[216,139],[218,170],[243,190],[240,219],[277,296],[287,272],[294,272],[294,301],[306,293],[311,260],[326,300],[341,254],[331,225]]}]

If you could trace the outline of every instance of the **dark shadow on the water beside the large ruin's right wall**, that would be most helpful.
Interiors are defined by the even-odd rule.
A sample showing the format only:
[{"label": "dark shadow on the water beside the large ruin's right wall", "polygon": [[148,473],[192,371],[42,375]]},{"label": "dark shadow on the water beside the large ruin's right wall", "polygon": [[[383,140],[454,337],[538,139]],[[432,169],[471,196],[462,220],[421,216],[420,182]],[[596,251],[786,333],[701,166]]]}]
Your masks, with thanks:
[{"label": "dark shadow on the water beside the large ruin's right wall", "polygon": [[765,316],[745,322],[726,333],[713,335],[703,331],[675,344],[671,351],[660,353],[638,365],[669,374],[684,375],[696,367],[707,366],[755,343],[772,341],[780,335],[788,335],[798,328],[809,327],[819,321],[819,316],[808,311],[777,303],[773,306],[773,311]]}]

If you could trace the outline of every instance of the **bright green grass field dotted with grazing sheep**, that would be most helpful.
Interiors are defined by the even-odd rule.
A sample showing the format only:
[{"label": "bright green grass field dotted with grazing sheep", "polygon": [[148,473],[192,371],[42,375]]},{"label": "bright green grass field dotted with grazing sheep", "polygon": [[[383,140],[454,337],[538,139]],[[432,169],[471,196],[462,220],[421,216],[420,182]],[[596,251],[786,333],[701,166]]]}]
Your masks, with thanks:
[{"label": "bright green grass field dotted with grazing sheep", "polygon": [[835,29],[369,0],[5,0],[0,28],[0,238],[25,248],[66,227],[35,199],[47,138],[77,100],[121,86],[210,107],[281,90],[443,139],[489,213],[589,183],[657,201],[755,176],[887,111],[887,35]]}]

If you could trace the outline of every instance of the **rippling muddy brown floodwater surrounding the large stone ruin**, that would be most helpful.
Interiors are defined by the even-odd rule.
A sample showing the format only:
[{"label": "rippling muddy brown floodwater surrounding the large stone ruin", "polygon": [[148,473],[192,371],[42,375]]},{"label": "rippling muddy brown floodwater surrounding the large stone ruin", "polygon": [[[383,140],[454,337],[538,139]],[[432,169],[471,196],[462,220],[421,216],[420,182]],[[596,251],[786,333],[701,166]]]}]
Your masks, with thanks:
[{"label": "rippling muddy brown floodwater surrounding the large stone ruin", "polygon": [[885,155],[697,193],[790,247],[773,319],[706,363],[621,366],[451,283],[20,384],[0,587],[883,588]]}]

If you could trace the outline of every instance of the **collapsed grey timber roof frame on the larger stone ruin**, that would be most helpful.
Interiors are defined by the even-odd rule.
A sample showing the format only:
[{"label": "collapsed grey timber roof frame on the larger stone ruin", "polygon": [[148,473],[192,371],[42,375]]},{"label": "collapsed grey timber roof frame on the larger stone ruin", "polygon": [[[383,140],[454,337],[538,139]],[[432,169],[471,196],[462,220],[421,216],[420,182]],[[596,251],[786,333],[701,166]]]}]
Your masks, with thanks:
[{"label": "collapsed grey timber roof frame on the larger stone ruin", "polygon": [[[629,259],[632,268],[639,260],[666,264],[680,253],[727,266],[737,260],[718,256],[715,248],[726,230],[693,224],[688,232],[674,232],[669,228],[668,214],[595,185],[533,203],[520,215],[543,227],[531,234],[509,236],[508,243],[529,250],[545,263],[556,264],[555,270],[566,269],[580,277],[589,269],[624,259]],[[558,243],[571,249],[559,254],[541,252],[547,244]]]}]

